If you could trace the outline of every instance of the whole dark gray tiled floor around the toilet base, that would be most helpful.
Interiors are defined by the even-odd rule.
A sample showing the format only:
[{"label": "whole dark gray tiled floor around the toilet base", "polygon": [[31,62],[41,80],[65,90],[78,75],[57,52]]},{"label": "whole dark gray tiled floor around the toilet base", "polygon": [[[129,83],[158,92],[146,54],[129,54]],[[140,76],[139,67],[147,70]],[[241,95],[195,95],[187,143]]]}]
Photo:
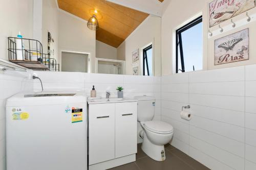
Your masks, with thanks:
[{"label": "whole dark gray tiled floor around the toilet base", "polygon": [[111,168],[111,170],[204,170],[209,169],[195,159],[184,154],[172,145],[165,147],[166,160],[158,162],[148,157],[142,150],[141,144],[138,144],[138,153],[136,162],[128,163],[122,166]]}]

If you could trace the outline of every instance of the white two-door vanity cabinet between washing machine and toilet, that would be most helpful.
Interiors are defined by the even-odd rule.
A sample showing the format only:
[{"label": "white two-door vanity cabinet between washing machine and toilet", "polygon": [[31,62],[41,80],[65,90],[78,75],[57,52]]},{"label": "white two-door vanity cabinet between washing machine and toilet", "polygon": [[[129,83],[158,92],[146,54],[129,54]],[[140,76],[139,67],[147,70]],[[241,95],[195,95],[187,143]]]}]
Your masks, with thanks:
[{"label": "white two-door vanity cabinet between washing machine and toilet", "polygon": [[89,103],[89,170],[136,160],[137,102]]}]

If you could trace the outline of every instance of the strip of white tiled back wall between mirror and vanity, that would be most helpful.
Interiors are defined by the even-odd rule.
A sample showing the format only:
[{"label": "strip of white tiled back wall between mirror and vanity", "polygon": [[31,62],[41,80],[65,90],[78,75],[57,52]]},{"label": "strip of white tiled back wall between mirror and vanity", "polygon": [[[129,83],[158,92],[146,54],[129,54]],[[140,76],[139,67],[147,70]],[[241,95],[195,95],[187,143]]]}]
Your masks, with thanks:
[{"label": "strip of white tiled back wall between mirror and vanity", "polygon": [[[42,80],[46,91],[85,90],[87,95],[90,96],[94,85],[97,96],[105,97],[105,92],[110,91],[111,97],[117,97],[116,88],[122,86],[126,98],[133,98],[135,95],[154,95],[156,100],[161,103],[161,77],[47,71],[35,71],[35,74]],[[40,89],[40,82],[35,82],[34,90]],[[161,109],[159,103],[156,104],[156,108]]]}]

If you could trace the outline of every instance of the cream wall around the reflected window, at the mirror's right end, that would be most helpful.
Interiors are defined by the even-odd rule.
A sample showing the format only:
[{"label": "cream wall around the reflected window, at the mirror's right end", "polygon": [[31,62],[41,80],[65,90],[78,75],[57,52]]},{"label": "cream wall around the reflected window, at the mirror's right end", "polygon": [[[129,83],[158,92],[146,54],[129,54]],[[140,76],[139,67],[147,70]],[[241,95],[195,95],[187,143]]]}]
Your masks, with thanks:
[{"label": "cream wall around the reflected window, at the mirror's right end", "polygon": [[117,48],[117,58],[126,61],[126,74],[132,75],[132,52],[153,43],[155,76],[161,76],[161,18],[149,15]]}]

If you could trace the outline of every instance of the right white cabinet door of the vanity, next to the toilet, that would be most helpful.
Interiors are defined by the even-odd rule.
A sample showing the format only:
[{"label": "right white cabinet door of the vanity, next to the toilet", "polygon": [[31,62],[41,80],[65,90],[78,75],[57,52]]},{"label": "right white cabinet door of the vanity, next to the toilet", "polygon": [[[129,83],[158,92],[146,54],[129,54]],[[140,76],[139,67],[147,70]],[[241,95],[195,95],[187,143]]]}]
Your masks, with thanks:
[{"label": "right white cabinet door of the vanity, next to the toilet", "polygon": [[137,102],[116,103],[115,157],[137,153]]}]

